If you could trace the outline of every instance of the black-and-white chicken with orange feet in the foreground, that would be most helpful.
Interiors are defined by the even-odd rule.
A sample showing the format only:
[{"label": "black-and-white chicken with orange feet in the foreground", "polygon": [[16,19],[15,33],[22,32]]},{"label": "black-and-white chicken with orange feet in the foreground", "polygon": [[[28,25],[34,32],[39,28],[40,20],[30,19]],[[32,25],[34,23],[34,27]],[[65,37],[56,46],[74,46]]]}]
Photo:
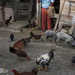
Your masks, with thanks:
[{"label": "black-and-white chicken with orange feet in the foreground", "polygon": [[[42,66],[43,68],[38,68],[38,70],[44,69],[47,70],[51,59],[54,58],[54,49],[51,49],[47,54],[41,55],[39,58],[36,59],[36,64]],[[46,68],[45,68],[46,66]]]}]

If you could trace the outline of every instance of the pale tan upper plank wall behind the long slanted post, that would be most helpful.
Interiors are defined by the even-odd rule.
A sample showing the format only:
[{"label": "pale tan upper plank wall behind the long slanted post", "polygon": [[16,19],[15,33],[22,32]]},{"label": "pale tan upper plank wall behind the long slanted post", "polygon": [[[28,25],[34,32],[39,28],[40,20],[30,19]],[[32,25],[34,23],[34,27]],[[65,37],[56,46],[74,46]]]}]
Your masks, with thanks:
[{"label": "pale tan upper plank wall behind the long slanted post", "polygon": [[[60,0],[60,9],[63,0]],[[73,17],[75,15],[75,1],[65,1],[62,15]]]}]

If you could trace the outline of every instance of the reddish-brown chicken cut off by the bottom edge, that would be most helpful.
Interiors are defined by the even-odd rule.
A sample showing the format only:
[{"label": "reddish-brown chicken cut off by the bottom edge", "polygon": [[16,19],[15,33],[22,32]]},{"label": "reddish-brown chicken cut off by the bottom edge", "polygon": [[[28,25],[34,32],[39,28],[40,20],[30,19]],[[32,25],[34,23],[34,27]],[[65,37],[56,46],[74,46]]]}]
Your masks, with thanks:
[{"label": "reddish-brown chicken cut off by the bottom edge", "polygon": [[14,73],[14,75],[37,75],[37,73],[38,73],[38,70],[37,69],[33,69],[33,70],[31,70],[31,72],[18,72],[17,70],[15,70],[15,69],[12,69],[11,70],[13,73]]}]

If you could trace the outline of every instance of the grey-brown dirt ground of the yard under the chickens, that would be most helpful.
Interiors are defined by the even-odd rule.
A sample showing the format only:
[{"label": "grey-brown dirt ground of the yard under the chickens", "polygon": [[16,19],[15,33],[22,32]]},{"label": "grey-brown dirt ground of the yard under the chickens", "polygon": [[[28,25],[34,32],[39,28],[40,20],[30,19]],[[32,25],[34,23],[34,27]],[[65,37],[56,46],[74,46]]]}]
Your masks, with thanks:
[{"label": "grey-brown dirt ground of the yard under the chickens", "polygon": [[[35,34],[42,33],[42,38],[45,39],[44,32],[42,30],[33,30]],[[13,33],[15,38],[11,42],[9,35]],[[35,59],[40,55],[45,54],[50,51],[50,49],[55,49],[54,60],[50,62],[49,68],[46,72],[38,71],[38,75],[75,75],[75,67],[71,63],[72,56],[75,55],[75,49],[70,45],[65,47],[57,46],[52,42],[52,39],[49,39],[50,42],[37,41],[31,39],[31,42],[23,49],[30,60],[28,61],[25,58],[19,59],[15,54],[9,52],[9,47],[12,47],[16,41],[24,37],[30,36],[30,30],[27,28],[23,29],[23,32],[12,31],[0,29],[0,68],[7,69],[7,73],[0,73],[0,75],[14,75],[11,72],[11,69],[15,68],[19,72],[22,71],[31,71],[33,68],[37,67]]]}]

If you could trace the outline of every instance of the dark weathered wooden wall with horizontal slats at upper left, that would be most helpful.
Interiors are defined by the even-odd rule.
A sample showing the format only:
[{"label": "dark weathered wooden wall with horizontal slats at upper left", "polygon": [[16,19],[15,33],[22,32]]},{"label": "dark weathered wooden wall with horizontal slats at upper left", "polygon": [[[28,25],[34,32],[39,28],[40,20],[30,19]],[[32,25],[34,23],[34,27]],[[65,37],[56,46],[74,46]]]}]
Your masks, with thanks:
[{"label": "dark weathered wooden wall with horizontal slats at upper left", "polygon": [[[20,2],[20,0],[10,0],[10,2],[7,3],[6,7],[13,9],[14,20],[22,17],[24,18],[26,16],[26,18],[31,17],[32,0],[25,2]],[[26,7],[28,7],[28,9],[26,9]]]}]

